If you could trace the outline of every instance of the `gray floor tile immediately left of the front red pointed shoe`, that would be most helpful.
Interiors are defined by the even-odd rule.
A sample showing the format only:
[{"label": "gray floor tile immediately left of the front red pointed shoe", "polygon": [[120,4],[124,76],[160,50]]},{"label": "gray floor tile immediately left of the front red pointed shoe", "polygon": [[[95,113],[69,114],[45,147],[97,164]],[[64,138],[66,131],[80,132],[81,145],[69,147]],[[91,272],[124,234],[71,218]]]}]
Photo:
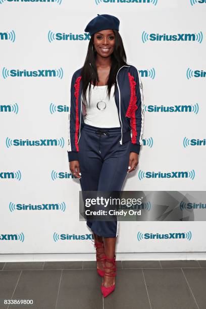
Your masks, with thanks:
[{"label": "gray floor tile immediately left of the front red pointed shoe", "polygon": [[94,270],[63,270],[57,309],[102,309],[101,282]]}]

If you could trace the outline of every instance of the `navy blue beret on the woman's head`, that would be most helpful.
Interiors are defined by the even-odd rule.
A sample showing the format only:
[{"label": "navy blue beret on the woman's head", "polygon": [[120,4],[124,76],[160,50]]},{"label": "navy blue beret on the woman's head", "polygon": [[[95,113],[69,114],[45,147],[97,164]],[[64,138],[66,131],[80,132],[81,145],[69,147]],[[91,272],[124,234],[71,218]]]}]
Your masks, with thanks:
[{"label": "navy blue beret on the woman's head", "polygon": [[89,32],[90,35],[100,31],[115,29],[119,31],[120,21],[117,17],[108,14],[102,14],[93,18],[85,28],[85,32]]}]

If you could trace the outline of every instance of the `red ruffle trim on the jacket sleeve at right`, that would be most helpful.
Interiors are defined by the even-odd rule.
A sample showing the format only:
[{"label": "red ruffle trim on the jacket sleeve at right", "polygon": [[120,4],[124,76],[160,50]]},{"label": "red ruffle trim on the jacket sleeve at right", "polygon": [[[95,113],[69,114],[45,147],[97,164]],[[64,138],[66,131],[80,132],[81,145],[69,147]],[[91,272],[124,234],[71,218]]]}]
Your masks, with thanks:
[{"label": "red ruffle trim on the jacket sleeve at right", "polygon": [[129,77],[129,83],[130,83],[131,96],[130,96],[129,106],[126,112],[126,117],[130,118],[130,125],[132,129],[132,143],[135,144],[136,136],[137,136],[136,118],[135,118],[135,112],[137,110],[136,82],[134,80],[134,76],[132,76],[130,73],[128,73],[128,77]]}]

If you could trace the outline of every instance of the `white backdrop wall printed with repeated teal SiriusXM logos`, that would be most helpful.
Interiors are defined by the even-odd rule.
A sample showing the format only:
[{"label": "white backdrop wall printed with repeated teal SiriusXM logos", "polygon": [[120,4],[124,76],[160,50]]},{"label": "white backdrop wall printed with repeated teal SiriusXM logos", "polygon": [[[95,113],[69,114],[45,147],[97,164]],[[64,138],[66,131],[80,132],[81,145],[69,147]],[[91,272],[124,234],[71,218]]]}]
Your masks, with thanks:
[{"label": "white backdrop wall printed with repeated teal SiriusXM logos", "polygon": [[[0,0],[0,253],[93,252],[67,141],[71,77],[97,14],[120,19],[143,82],[144,145],[123,189],[205,190],[205,2]],[[204,221],[120,222],[117,251],[205,251],[205,232]]]}]

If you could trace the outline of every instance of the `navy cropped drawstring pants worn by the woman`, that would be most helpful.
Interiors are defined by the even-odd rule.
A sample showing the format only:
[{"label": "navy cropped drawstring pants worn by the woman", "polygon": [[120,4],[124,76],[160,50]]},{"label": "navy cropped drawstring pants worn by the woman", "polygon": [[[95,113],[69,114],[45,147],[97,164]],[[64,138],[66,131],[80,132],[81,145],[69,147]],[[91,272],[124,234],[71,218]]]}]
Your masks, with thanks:
[{"label": "navy cropped drawstring pants worn by the woman", "polygon": [[[120,144],[121,128],[83,125],[79,138],[82,191],[121,191],[127,176],[130,143]],[[98,236],[117,237],[118,221],[87,221]]]}]

